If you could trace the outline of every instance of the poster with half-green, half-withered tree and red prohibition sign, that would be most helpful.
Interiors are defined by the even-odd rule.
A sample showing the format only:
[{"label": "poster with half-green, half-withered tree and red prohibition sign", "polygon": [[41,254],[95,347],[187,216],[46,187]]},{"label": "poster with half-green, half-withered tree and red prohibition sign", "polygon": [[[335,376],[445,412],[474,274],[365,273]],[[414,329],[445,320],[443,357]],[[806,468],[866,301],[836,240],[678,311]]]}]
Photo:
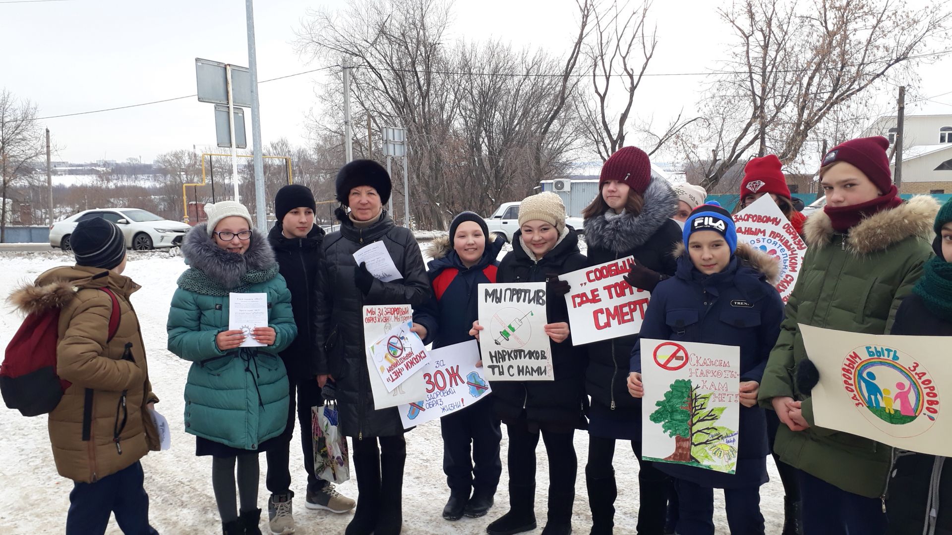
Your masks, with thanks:
[{"label": "poster with half-green, half-withered tree and red prohibition sign", "polygon": [[643,338],[647,461],[734,473],[741,417],[741,349]]}]

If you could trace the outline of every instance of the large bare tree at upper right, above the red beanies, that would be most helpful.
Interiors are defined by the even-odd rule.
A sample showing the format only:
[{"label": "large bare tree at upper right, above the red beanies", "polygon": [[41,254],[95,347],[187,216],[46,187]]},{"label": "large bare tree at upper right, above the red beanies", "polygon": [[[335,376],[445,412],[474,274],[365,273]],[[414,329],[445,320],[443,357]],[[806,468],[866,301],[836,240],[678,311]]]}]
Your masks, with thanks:
[{"label": "large bare tree at upper right, above the red beanies", "polygon": [[914,78],[949,22],[940,3],[898,0],[739,0],[720,14],[734,49],[706,90],[704,121],[679,136],[687,159],[705,162],[705,188],[753,154],[795,161],[837,109],[888,76]]}]

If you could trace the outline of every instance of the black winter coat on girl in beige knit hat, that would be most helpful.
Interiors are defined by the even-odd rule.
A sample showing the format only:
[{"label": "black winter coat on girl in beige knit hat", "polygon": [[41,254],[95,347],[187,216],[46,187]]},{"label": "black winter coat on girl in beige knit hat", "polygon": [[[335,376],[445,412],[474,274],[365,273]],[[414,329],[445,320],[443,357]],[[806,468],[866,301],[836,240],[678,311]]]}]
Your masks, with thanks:
[{"label": "black winter coat on girl in beige knit hat", "polygon": [[[563,274],[587,267],[588,262],[579,251],[575,230],[566,228],[564,237],[542,260],[529,256],[523,246],[522,231],[512,237],[513,248],[499,264],[498,283],[541,283],[546,274]],[[549,294],[545,301],[547,323],[568,321],[565,297]],[[571,330],[571,326],[569,326]],[[524,416],[529,422],[560,428],[584,427],[585,348],[573,347],[571,335],[562,344],[552,343],[552,370],[554,381],[494,381],[492,394],[496,412],[503,421]]]}]

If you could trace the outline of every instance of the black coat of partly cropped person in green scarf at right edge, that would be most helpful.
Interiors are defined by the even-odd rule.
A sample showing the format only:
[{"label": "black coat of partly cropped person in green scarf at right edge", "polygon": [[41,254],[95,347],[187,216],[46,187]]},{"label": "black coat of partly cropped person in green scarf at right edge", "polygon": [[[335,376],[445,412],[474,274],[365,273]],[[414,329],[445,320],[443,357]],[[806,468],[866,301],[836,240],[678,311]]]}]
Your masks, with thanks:
[{"label": "black coat of partly cropped person in green scarf at right edge", "polygon": [[[890,334],[952,336],[952,321],[925,307],[916,293],[902,300]],[[899,451],[886,488],[887,535],[922,533],[929,519],[929,504],[936,511],[936,529],[929,533],[952,535],[952,462],[911,451]],[[935,478],[938,484],[930,484]],[[930,499],[931,497],[931,499]]]}]

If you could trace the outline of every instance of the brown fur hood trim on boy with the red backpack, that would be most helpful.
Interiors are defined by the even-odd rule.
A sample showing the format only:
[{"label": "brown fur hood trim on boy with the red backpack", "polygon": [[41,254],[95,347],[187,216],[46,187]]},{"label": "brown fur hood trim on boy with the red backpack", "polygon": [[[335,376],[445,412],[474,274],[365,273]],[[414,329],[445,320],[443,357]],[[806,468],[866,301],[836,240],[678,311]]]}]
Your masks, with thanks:
[{"label": "brown fur hood trim on boy with the red backpack", "polygon": [[24,314],[31,314],[66,307],[79,290],[99,287],[112,288],[125,296],[139,289],[129,277],[108,269],[62,266],[46,271],[32,284],[17,287],[7,301]]}]

